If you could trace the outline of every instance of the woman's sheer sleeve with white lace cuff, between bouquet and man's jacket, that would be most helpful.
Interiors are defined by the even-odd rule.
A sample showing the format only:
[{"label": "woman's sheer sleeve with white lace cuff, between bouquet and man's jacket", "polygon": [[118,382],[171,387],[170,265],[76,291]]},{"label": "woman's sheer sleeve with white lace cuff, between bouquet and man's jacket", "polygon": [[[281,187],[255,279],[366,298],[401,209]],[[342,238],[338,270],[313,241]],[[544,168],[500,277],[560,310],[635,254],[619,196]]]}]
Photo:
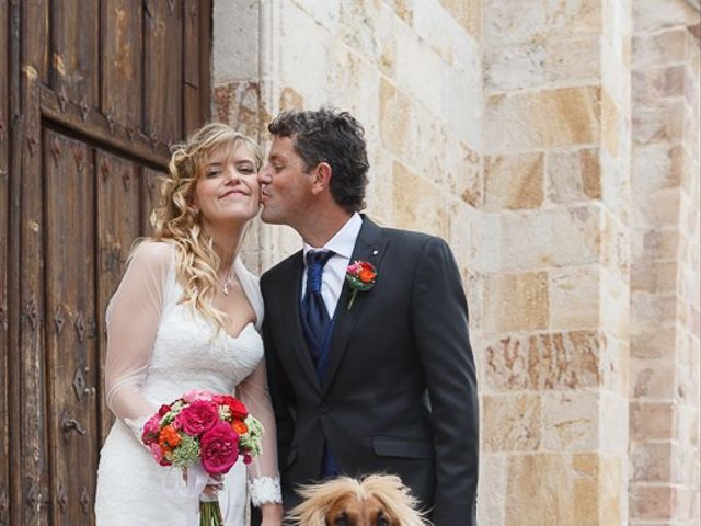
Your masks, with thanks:
[{"label": "woman's sheer sleeve with white lace cuff, between bouquet and man's jacket", "polygon": [[281,503],[280,478],[277,468],[277,438],[275,415],[267,389],[265,361],[261,361],[238,387],[238,395],[249,412],[263,424],[263,453],[249,465],[249,492],[255,506]]}]

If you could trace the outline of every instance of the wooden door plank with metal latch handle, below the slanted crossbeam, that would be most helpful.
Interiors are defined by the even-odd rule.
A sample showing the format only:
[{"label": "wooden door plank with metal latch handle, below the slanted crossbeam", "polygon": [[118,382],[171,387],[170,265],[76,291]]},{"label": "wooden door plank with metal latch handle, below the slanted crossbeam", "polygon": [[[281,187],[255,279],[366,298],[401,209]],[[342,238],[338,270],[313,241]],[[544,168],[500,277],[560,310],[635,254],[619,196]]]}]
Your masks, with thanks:
[{"label": "wooden door plank with metal latch handle, below the slanted crossbeam", "polygon": [[99,454],[93,178],[87,145],[45,132],[46,368],[54,524],[92,517]]}]

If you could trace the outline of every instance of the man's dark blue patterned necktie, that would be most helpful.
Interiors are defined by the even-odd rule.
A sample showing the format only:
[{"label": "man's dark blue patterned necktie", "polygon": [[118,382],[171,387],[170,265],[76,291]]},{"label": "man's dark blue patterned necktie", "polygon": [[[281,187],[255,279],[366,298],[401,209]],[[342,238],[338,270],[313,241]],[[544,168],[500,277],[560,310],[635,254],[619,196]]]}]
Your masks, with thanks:
[{"label": "man's dark blue patterned necktie", "polygon": [[307,290],[302,299],[301,318],[314,367],[319,365],[331,324],[326,304],[321,296],[321,278],[324,265],[333,254],[330,250],[307,252]]}]

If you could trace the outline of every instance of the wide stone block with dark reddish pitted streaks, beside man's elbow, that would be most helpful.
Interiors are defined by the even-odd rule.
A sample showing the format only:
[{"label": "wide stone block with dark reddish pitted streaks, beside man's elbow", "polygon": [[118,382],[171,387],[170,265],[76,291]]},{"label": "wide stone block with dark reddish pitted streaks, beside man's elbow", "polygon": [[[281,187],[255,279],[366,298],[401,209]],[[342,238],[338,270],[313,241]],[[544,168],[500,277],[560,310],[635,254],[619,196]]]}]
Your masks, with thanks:
[{"label": "wide stone block with dark reddish pitted streaks, beside man's elbow", "polygon": [[486,342],[485,389],[571,390],[601,385],[606,339],[594,331],[504,336]]}]

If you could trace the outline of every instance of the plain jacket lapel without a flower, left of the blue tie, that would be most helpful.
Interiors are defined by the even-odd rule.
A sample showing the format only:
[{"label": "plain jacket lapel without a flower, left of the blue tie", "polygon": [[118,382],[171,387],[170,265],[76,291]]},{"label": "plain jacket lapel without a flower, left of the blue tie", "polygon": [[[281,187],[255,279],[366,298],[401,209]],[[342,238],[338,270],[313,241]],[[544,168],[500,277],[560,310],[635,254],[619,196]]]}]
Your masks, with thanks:
[{"label": "plain jacket lapel without a flower, left of the blue tie", "polygon": [[290,265],[291,268],[289,270],[288,279],[281,285],[281,305],[291,306],[289,312],[284,315],[285,333],[289,338],[292,352],[297,356],[304,375],[308,377],[310,384],[312,384],[317,390],[320,390],[319,379],[317,378],[314,364],[307,348],[307,341],[304,340],[300,321],[299,291],[301,289],[302,272],[304,271],[301,251],[295,255]]}]

